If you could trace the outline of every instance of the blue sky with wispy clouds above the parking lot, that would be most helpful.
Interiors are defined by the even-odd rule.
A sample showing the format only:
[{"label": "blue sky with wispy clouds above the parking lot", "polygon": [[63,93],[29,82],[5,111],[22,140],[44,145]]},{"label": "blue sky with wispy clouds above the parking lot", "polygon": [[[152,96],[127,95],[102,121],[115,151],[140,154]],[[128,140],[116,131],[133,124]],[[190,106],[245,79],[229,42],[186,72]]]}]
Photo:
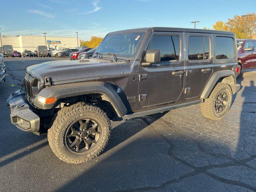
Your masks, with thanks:
[{"label": "blue sky with wispy clouds above the parking lot", "polygon": [[[242,2],[246,4],[243,5]],[[2,35],[72,36],[83,40],[129,28],[212,28],[216,21],[256,12],[256,0],[4,0]]]}]

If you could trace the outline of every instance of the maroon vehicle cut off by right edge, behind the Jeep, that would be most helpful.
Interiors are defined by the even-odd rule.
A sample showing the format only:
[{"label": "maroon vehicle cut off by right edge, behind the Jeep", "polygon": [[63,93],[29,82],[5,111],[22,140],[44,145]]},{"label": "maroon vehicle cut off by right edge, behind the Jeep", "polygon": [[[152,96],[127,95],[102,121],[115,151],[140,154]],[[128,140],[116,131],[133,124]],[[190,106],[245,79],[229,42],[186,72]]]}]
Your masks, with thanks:
[{"label": "maroon vehicle cut off by right edge, behind the Jeep", "polygon": [[256,68],[256,39],[237,39],[236,43],[241,70]]}]

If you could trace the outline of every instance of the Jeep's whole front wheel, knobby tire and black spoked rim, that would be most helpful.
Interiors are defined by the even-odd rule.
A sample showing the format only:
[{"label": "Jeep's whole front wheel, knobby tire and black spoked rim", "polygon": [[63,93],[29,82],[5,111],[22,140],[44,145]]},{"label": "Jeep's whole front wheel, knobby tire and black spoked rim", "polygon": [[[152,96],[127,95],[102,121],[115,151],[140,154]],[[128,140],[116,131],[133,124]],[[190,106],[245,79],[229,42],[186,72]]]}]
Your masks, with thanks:
[{"label": "Jeep's whole front wheel, knobby tire and black spoked rim", "polygon": [[110,120],[102,109],[79,102],[58,112],[48,130],[48,141],[60,160],[78,164],[95,158],[104,150],[110,129]]}]

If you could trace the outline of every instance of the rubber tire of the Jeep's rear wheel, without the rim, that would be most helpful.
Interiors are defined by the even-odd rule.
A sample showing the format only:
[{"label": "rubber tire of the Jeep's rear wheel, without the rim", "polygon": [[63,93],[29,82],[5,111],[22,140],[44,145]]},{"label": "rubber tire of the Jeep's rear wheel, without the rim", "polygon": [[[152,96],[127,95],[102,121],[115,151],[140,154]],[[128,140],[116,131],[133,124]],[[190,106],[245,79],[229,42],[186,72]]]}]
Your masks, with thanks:
[{"label": "rubber tire of the Jeep's rear wheel, without the rim", "polygon": [[[226,102],[226,108],[224,108],[222,112],[218,113],[215,110],[215,101],[221,92],[226,92],[227,102]],[[203,116],[205,116],[206,118],[209,118],[212,120],[220,120],[228,112],[231,106],[231,102],[232,102],[232,90],[230,86],[226,83],[218,83],[212,90],[212,93],[210,94],[209,98],[205,99],[204,102],[201,103],[201,106],[200,106],[201,112]]]}]

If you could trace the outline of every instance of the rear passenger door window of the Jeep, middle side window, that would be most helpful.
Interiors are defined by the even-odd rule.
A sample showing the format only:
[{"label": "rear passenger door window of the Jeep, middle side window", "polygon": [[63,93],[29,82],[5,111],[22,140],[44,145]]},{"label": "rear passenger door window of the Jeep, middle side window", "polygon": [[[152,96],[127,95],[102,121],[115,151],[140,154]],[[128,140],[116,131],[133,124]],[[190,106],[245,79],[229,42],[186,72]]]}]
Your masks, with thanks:
[{"label": "rear passenger door window of the Jeep, middle side window", "polygon": [[208,60],[210,39],[203,36],[188,38],[188,60]]}]

